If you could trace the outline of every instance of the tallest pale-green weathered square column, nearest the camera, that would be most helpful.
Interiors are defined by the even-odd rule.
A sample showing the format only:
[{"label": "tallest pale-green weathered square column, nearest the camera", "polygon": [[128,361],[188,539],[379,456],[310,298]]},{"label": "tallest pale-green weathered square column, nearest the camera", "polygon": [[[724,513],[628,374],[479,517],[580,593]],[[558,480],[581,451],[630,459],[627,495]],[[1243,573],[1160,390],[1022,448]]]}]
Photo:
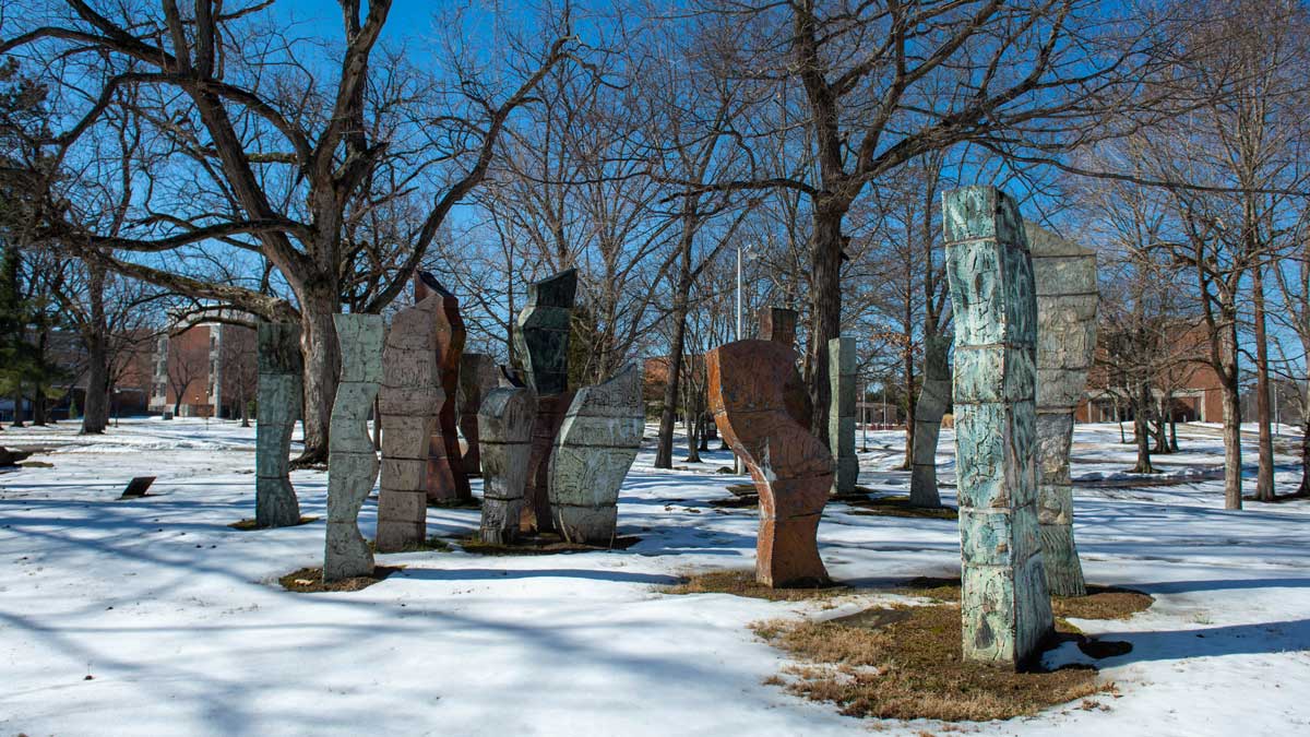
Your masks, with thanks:
[{"label": "tallest pale-green weathered square column, nearest the camera", "polygon": [[1023,223],[992,186],[942,195],[955,311],[963,650],[1011,667],[1052,631],[1038,539],[1036,323]]}]

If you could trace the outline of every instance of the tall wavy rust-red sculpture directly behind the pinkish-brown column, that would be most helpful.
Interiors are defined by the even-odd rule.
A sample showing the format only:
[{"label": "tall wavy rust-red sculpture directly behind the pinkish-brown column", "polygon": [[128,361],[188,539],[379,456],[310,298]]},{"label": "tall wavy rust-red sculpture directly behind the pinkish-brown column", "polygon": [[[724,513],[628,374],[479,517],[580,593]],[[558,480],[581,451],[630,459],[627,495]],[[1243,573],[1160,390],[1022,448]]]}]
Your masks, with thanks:
[{"label": "tall wavy rust-red sculpture directly behind the pinkish-brown column", "polygon": [[414,302],[438,298],[436,363],[445,401],[438,412],[438,429],[432,433],[427,456],[427,501],[436,504],[464,502],[473,498],[469,477],[464,473],[458,425],[455,420],[455,396],[460,388],[460,357],[464,355],[464,317],[460,300],[427,271],[414,277]]}]

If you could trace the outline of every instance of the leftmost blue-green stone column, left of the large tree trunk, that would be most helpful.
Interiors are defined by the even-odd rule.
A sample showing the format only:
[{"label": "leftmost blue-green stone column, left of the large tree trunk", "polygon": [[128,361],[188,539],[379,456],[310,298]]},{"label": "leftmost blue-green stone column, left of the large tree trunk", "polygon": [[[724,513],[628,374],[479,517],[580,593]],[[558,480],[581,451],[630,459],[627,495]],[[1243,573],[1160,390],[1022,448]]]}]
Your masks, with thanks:
[{"label": "leftmost blue-green stone column, left of the large tree trunk", "polygon": [[291,434],[300,418],[300,325],[259,323],[259,408],[254,434],[254,521],[258,527],[300,523],[291,485]]}]

